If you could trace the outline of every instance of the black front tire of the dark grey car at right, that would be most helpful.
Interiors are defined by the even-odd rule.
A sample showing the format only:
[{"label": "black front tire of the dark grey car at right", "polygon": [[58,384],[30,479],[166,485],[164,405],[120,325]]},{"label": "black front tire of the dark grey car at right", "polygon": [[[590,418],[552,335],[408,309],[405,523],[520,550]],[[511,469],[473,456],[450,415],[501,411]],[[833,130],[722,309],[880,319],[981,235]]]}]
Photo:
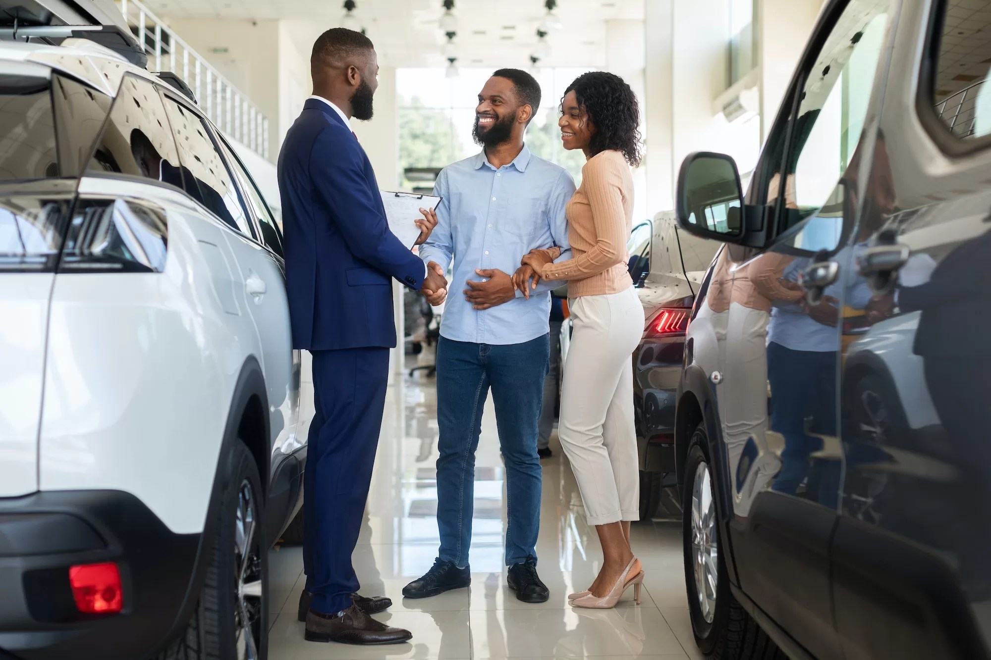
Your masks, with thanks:
[{"label": "black front tire of the dark grey car at right", "polygon": [[[685,554],[685,587],[688,593],[689,615],[695,642],[707,658],[714,660],[785,660],[786,656],[755,620],[743,609],[729,591],[729,578],[726,575],[725,552],[722,544],[718,518],[714,525],[716,536],[716,603],[710,611],[712,620],[703,613],[702,599],[695,576],[695,552],[693,548],[693,492],[696,473],[701,465],[707,470],[712,465],[709,460],[709,442],[704,423],[699,424],[689,443],[685,463],[685,484],[682,489],[682,525]],[[710,496],[716,496],[716,481],[709,473]],[[715,515],[715,504],[714,513]]]}]

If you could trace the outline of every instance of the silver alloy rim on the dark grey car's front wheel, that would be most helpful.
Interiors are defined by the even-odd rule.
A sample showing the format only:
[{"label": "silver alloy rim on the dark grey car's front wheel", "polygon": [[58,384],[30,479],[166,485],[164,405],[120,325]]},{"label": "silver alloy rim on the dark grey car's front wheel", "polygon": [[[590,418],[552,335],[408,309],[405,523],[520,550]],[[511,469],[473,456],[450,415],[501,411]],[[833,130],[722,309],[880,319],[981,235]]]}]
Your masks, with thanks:
[{"label": "silver alloy rim on the dark grey car's front wheel", "polygon": [[712,623],[716,616],[718,552],[716,502],[713,499],[709,466],[703,461],[696,468],[692,486],[692,561],[696,598],[707,623]]}]

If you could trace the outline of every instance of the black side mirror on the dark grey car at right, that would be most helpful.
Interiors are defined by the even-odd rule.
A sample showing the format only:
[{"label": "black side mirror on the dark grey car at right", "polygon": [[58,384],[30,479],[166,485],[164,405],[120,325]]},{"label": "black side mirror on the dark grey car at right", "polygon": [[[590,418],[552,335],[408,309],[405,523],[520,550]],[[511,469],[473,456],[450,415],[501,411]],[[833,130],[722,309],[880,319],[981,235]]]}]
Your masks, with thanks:
[{"label": "black side mirror on the dark grey car at right", "polygon": [[690,154],[678,172],[675,193],[678,225],[696,236],[742,243],[743,186],[736,163],[724,154]]}]

